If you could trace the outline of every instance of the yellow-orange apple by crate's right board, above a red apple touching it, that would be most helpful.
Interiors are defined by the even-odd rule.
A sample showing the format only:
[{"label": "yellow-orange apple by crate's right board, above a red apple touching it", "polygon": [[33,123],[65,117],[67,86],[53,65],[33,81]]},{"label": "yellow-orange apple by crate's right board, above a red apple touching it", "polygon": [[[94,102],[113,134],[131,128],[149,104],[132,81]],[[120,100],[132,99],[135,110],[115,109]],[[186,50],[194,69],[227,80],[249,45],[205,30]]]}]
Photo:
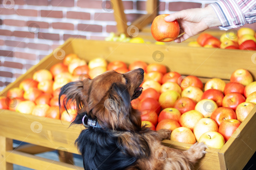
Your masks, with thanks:
[{"label": "yellow-orange apple by crate's right board, above a red apple touching it", "polygon": [[243,102],[240,105],[238,105],[235,109],[237,120],[243,122],[246,116],[250,113],[250,111],[253,110],[254,106],[255,104],[251,102]]}]

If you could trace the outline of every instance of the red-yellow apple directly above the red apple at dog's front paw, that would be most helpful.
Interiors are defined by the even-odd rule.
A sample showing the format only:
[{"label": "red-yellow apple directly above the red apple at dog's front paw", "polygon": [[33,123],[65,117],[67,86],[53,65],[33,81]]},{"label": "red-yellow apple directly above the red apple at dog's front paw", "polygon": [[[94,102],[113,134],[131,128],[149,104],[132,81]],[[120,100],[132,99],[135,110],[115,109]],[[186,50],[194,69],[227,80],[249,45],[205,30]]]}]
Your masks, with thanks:
[{"label": "red-yellow apple directly above the red apple at dog's front paw", "polygon": [[165,108],[164,110],[162,110],[158,116],[158,122],[161,122],[164,119],[172,119],[175,121],[179,121],[180,120],[180,111],[178,109],[175,108]]}]

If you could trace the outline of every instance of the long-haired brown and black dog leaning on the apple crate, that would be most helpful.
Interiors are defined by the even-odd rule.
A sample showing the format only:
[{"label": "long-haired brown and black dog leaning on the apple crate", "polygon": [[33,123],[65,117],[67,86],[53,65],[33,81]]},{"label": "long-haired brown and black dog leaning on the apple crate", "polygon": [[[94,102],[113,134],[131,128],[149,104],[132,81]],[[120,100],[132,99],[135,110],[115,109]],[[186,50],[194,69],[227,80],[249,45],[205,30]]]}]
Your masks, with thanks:
[{"label": "long-haired brown and black dog leaning on the apple crate", "polygon": [[86,115],[84,122],[97,119],[102,127],[88,126],[76,139],[84,169],[186,170],[204,156],[203,143],[182,152],[161,144],[162,139],[169,138],[169,130],[141,127],[140,113],[131,107],[131,100],[141,94],[136,89],[143,78],[143,69],[125,74],[107,71],[92,80],[70,82],[61,88],[59,102],[65,95],[65,108],[70,101],[76,103],[78,114],[72,124],[82,124]]}]

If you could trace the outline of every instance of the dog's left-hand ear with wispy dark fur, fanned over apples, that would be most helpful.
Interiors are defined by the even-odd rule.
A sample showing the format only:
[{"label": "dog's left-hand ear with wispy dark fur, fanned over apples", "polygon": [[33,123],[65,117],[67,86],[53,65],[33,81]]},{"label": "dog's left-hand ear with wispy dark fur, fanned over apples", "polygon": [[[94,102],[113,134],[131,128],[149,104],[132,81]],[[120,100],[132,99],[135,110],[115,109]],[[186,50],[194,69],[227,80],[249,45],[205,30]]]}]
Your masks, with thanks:
[{"label": "dog's left-hand ear with wispy dark fur, fanned over apples", "polygon": [[83,81],[70,82],[65,84],[59,93],[59,106],[61,105],[61,96],[65,95],[63,100],[63,105],[65,110],[68,106],[73,103],[76,105],[77,113],[81,110],[85,110],[87,106],[88,98],[88,86],[91,82],[91,79],[84,79]]}]

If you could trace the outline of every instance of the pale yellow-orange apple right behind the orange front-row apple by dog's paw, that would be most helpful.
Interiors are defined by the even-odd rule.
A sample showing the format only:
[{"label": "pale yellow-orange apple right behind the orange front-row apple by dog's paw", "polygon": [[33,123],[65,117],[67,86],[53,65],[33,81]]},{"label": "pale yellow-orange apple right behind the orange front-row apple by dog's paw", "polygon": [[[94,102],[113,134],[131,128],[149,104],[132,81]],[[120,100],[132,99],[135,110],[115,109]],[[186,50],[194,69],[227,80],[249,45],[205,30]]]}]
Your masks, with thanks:
[{"label": "pale yellow-orange apple right behind the orange front-row apple by dog's paw", "polygon": [[200,112],[196,110],[190,110],[190,111],[187,111],[186,113],[183,113],[180,116],[179,123],[181,126],[188,127],[193,131],[197,122],[203,117],[204,116]]}]

